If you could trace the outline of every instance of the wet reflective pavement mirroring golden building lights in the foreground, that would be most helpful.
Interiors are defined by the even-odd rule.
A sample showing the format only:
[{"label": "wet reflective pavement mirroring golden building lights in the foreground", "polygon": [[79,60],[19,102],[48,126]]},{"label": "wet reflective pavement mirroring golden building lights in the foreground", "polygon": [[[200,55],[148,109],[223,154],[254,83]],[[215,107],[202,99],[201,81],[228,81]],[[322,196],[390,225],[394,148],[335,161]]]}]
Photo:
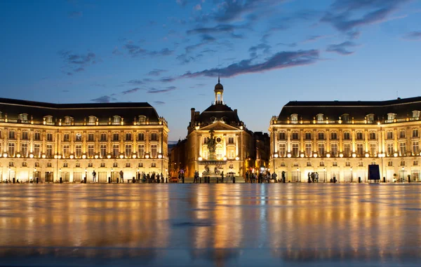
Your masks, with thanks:
[{"label": "wet reflective pavement mirroring golden building lights in the foreground", "polygon": [[0,266],[421,266],[421,184],[1,184]]}]

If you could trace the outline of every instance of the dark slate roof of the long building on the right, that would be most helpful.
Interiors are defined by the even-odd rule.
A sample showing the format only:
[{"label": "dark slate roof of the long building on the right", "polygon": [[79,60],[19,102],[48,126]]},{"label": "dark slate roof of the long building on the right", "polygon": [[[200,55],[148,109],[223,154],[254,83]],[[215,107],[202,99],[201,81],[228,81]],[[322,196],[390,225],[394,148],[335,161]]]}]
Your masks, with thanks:
[{"label": "dark slate roof of the long building on the right", "polygon": [[279,121],[286,121],[291,114],[298,114],[302,120],[312,120],[317,114],[336,120],[343,114],[349,118],[363,120],[368,114],[375,119],[387,119],[387,114],[394,113],[396,118],[412,116],[412,111],[421,111],[421,97],[398,98],[387,101],[290,101],[283,106]]}]

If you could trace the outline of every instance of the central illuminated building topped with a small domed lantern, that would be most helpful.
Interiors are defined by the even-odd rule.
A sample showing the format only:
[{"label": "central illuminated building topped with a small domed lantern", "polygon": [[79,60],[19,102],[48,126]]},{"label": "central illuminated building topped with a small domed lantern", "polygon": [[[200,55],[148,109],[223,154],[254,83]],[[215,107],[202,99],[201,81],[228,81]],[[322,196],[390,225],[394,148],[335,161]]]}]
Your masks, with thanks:
[{"label": "central illuminated building topped with a small domed lantern", "polygon": [[192,108],[187,128],[186,172],[193,177],[234,175],[244,177],[254,154],[253,132],[247,130],[236,109],[224,102],[224,87],[215,85],[215,102],[200,112]]}]

